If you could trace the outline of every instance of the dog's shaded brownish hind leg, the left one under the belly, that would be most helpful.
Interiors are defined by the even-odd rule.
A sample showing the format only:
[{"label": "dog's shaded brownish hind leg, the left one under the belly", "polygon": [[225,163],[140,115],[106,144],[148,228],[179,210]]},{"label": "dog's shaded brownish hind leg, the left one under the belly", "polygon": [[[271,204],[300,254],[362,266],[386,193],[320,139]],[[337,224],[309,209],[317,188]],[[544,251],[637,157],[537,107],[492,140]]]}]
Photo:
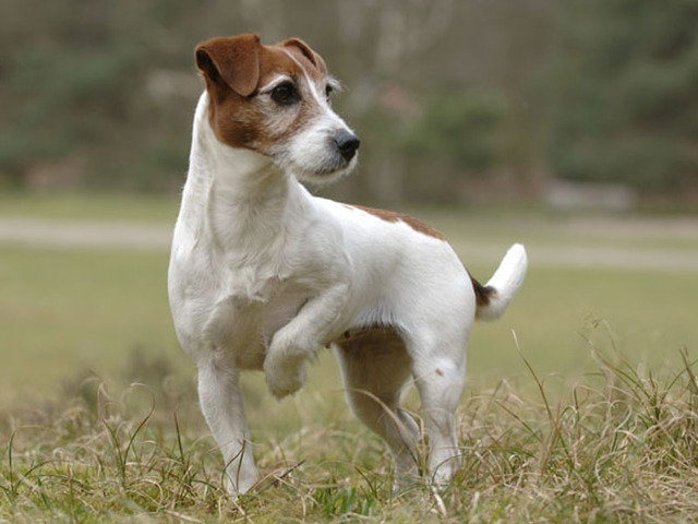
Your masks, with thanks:
[{"label": "dog's shaded brownish hind leg, the left one under the belly", "polygon": [[376,327],[340,341],[336,353],[351,409],[385,439],[395,456],[396,486],[416,477],[420,431],[399,407],[400,391],[412,370],[402,340],[393,330]]}]

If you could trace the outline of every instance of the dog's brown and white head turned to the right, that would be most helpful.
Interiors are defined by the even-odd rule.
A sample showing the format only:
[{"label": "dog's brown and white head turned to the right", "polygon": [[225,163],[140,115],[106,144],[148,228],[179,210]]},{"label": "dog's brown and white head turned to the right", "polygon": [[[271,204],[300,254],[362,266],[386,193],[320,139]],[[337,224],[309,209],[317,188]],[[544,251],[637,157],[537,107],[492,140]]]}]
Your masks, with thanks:
[{"label": "dog's brown and white head turned to the right", "polygon": [[196,47],[196,66],[224,144],[256,151],[311,181],[356,166],[359,139],[329,103],[338,83],[302,40],[264,46],[257,35],[213,38]]}]

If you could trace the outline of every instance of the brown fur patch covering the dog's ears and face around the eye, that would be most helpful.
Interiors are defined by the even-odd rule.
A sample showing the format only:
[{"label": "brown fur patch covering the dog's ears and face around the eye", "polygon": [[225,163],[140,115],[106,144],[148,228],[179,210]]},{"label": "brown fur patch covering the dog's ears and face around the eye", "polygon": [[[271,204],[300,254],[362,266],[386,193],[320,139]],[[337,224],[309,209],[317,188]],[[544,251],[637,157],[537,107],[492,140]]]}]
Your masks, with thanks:
[{"label": "brown fur patch covering the dog's ears and face around the eye", "polygon": [[[289,53],[292,56],[289,56]],[[196,64],[209,95],[209,121],[216,138],[231,147],[273,155],[273,147],[294,135],[318,111],[303,93],[305,73],[322,84],[327,68],[305,43],[290,38],[278,46],[264,46],[257,35],[213,38],[196,47]],[[302,102],[269,111],[257,92],[275,76],[292,79]]]}]

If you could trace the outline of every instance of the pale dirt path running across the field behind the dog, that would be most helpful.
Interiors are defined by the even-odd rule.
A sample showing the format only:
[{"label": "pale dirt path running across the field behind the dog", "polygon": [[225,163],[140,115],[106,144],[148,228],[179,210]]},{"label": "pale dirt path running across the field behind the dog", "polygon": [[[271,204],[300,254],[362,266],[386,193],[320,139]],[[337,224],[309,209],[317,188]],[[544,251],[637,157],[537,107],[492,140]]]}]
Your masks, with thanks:
[{"label": "pale dirt path running across the field behind the dog", "polygon": [[[645,227],[647,226],[647,229]],[[685,224],[682,235],[693,236],[696,224]],[[589,223],[579,227],[598,228],[601,237],[607,238],[612,231],[618,237],[661,235],[667,229],[653,224],[624,224],[606,227],[604,224]],[[676,231],[677,229],[672,228]],[[570,231],[574,236],[574,233]],[[20,245],[39,248],[117,248],[166,252],[172,235],[170,225],[131,223],[84,223],[51,222],[47,219],[0,217],[0,247]],[[698,235],[696,236],[698,238]],[[698,245],[698,242],[697,242]],[[455,241],[454,248],[470,263],[496,263],[506,247],[498,243],[471,243]],[[698,272],[698,248],[614,248],[614,247],[568,247],[545,243],[528,243],[531,265],[539,267],[615,267],[631,270]]]}]

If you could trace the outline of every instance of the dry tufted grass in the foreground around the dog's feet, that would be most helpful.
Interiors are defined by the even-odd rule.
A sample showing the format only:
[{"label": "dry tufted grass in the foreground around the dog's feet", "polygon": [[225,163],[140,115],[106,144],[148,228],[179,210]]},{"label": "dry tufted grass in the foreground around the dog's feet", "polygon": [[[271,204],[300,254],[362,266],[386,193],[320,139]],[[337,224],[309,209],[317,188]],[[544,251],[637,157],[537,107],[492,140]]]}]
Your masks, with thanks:
[{"label": "dry tufted grass in the foreground around the dog's feet", "polygon": [[[257,437],[264,478],[221,490],[193,384],[133,362],[119,397],[86,378],[0,415],[0,520],[12,522],[689,522],[698,516],[698,381],[591,348],[595,373],[549,398],[534,370],[470,393],[464,467],[446,487],[390,490],[389,457],[360,426]],[[610,356],[611,355],[611,356]],[[127,373],[128,376],[129,373]],[[157,406],[154,408],[153,406]],[[312,410],[313,406],[309,406]]]}]

